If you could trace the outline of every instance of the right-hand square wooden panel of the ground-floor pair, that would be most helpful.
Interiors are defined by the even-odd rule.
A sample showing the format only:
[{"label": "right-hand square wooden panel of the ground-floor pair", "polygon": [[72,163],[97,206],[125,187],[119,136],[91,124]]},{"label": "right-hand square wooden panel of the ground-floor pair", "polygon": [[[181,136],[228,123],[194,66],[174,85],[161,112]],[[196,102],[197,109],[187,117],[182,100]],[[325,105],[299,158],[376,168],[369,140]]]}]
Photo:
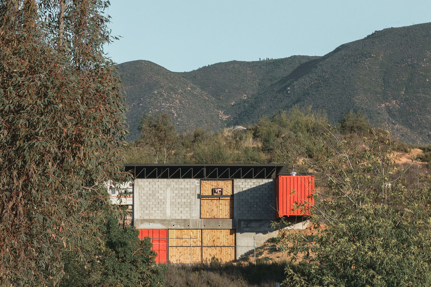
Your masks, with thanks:
[{"label": "right-hand square wooden panel of the ground-floor pair", "polygon": [[[235,229],[203,229],[202,259],[210,261],[212,257],[220,262],[235,259]],[[210,246],[210,247],[206,247]]]}]

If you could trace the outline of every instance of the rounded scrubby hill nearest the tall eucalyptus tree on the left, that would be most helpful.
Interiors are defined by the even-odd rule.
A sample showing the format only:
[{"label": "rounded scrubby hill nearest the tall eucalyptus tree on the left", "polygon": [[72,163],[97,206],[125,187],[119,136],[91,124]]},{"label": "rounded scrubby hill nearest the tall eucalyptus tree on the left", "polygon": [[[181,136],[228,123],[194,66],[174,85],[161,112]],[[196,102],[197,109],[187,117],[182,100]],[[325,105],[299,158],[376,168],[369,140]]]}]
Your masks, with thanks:
[{"label": "rounded scrubby hill nearest the tall eucalyptus tree on the left", "polygon": [[149,61],[133,61],[117,65],[127,95],[126,114],[130,134],[136,140],[143,114],[165,111],[172,115],[181,130],[209,124],[214,129],[225,126],[218,102],[193,83]]}]

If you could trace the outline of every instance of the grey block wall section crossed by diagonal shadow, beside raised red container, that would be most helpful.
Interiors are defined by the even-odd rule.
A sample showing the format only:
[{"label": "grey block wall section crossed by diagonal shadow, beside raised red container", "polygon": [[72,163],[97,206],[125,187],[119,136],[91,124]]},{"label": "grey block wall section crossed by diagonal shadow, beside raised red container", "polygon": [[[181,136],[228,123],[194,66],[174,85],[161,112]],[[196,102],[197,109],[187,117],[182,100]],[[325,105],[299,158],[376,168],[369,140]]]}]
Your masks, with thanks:
[{"label": "grey block wall section crossed by diagonal shadow, beside raised red container", "polygon": [[234,219],[275,219],[274,179],[234,180]]}]

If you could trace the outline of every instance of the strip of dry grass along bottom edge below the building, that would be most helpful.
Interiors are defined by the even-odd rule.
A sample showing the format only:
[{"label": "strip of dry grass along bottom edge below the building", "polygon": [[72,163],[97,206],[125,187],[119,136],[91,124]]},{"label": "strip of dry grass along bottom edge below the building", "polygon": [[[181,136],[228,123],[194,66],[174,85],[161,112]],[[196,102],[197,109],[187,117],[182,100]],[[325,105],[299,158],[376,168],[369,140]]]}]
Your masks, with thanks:
[{"label": "strip of dry grass along bottom edge below the building", "polygon": [[274,287],[285,278],[286,262],[168,265],[166,287]]}]

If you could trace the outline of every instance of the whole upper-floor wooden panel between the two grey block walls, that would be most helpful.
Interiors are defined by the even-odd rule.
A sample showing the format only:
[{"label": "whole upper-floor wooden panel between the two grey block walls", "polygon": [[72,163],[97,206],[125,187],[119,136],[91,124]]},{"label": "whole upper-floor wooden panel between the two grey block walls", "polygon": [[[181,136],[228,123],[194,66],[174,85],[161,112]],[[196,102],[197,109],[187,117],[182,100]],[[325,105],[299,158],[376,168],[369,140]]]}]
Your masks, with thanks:
[{"label": "whole upper-floor wooden panel between the two grey block walls", "polygon": [[223,188],[223,195],[230,198],[201,198],[200,218],[234,218],[234,198],[232,180],[202,180],[200,194],[212,195],[212,188]]}]

